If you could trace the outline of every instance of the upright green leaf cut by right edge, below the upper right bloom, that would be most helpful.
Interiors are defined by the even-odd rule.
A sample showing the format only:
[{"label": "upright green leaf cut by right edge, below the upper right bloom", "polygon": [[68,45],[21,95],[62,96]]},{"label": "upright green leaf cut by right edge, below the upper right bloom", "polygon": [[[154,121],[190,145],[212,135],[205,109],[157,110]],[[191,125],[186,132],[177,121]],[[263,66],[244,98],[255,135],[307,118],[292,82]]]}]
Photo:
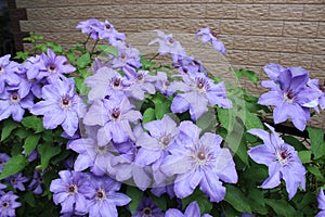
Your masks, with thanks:
[{"label": "upright green leaf cut by right edge, below the upper right bloom", "polygon": [[323,130],[312,128],[312,127],[308,127],[307,130],[310,138],[310,144],[312,146],[312,151],[314,154],[314,159],[322,157],[325,154],[325,145],[323,145],[324,142]]}]

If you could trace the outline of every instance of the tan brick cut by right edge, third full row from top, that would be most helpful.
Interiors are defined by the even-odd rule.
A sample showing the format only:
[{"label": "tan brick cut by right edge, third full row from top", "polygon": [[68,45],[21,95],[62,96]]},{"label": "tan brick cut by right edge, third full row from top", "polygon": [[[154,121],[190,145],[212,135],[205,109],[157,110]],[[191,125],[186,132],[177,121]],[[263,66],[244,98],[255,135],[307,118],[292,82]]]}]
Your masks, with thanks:
[{"label": "tan brick cut by right edge, third full row from top", "polygon": [[325,55],[325,39],[299,39],[298,53]]}]

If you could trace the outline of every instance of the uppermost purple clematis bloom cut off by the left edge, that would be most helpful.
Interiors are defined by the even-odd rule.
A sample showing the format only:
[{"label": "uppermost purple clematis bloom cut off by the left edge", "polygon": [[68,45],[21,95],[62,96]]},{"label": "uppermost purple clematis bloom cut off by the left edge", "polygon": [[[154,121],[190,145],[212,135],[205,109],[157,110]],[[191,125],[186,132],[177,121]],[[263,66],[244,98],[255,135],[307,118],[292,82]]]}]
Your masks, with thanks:
[{"label": "uppermost purple clematis bloom cut off by the left edge", "polygon": [[10,61],[10,54],[0,58],[0,93],[4,91],[5,85],[17,86],[20,77],[16,73],[20,71],[20,64]]}]

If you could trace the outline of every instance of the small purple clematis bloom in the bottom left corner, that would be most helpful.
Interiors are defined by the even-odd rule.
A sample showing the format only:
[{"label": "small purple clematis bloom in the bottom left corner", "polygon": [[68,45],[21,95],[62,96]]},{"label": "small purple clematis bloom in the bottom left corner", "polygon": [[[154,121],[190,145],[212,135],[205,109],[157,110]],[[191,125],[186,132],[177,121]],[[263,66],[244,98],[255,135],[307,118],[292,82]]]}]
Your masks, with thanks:
[{"label": "small purple clematis bloom in the bottom left corner", "polygon": [[16,216],[15,209],[22,204],[20,202],[16,202],[18,199],[17,195],[15,195],[12,191],[0,195],[0,216],[6,217],[6,216]]}]

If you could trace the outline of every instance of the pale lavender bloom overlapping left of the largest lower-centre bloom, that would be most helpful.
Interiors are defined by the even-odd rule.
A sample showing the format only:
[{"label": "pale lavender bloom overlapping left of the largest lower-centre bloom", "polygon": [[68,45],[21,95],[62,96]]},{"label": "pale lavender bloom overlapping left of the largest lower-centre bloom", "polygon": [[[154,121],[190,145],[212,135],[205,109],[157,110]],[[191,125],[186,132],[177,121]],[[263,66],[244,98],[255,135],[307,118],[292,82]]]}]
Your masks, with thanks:
[{"label": "pale lavender bloom overlapping left of the largest lower-centre bloom", "polygon": [[162,119],[144,124],[144,128],[150,133],[143,131],[136,139],[136,146],[141,146],[136,159],[143,165],[153,167],[154,179],[157,184],[160,184],[167,177],[159,170],[159,166],[172,149],[179,130],[177,124],[168,115],[164,115]]}]

